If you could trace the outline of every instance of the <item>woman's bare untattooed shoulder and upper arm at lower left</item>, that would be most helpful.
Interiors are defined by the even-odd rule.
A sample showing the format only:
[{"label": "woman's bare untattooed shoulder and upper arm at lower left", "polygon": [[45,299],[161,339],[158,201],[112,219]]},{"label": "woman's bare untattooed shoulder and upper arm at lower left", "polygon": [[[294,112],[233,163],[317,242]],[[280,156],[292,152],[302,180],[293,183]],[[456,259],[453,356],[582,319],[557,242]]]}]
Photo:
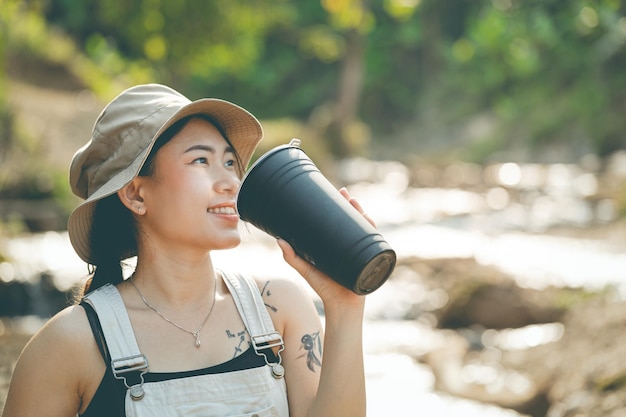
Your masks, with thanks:
[{"label": "woman's bare untattooed shoulder and upper arm at lower left", "polygon": [[103,373],[83,308],[68,307],[24,347],[2,417],[75,417],[83,411],[85,393],[93,395]]}]

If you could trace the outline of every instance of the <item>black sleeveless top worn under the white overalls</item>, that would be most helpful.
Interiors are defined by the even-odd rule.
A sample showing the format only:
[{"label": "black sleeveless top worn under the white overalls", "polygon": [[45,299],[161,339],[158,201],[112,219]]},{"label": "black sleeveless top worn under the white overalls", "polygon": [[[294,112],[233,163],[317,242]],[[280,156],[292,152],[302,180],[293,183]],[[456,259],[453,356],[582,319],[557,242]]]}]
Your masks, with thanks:
[{"label": "black sleeveless top worn under the white overalls", "polygon": [[[104,363],[107,364],[106,372],[102,377],[102,381],[100,381],[100,385],[98,386],[94,397],[85,412],[81,414],[81,417],[124,417],[126,415],[124,411],[126,387],[124,386],[122,380],[115,379],[113,376],[113,371],[110,366],[110,354],[106,347],[98,315],[90,304],[82,302],[81,306],[83,306],[85,312],[87,313],[91,331],[96,339],[96,343],[98,344]],[[264,353],[267,354],[267,360],[270,363],[277,362],[277,357],[271,349],[266,349]],[[158,382],[198,375],[234,372],[244,369],[258,368],[264,366],[265,364],[265,358],[261,355],[257,355],[254,349],[250,347],[241,355],[215,366],[184,372],[148,372],[144,375],[144,381]]]}]

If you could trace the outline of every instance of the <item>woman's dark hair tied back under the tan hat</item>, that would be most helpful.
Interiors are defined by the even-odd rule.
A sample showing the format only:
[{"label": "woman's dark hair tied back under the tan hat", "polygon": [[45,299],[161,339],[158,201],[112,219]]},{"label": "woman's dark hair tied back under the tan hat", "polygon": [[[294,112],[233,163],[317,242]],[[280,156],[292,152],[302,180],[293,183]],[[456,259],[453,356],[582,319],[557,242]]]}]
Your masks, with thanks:
[{"label": "woman's dark hair tied back under the tan hat", "polygon": [[[159,149],[178,134],[190,120],[200,118],[211,123],[222,134],[226,142],[234,149],[224,129],[208,115],[197,114],[178,120],[157,138],[148,158],[144,162],[139,176],[150,177],[156,172],[155,156]],[[235,159],[240,158],[235,152]],[[90,234],[93,274],[83,287],[82,295],[102,287],[124,280],[122,261],[137,253],[137,222],[133,213],[120,201],[117,193],[103,198],[95,204]]]}]

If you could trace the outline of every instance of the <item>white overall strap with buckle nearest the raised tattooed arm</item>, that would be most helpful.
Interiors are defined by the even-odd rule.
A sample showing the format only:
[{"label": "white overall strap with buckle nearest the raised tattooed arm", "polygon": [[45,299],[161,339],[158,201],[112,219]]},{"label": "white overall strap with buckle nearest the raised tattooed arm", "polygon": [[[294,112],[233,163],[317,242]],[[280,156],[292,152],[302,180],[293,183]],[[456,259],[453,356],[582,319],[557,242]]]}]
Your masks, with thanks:
[{"label": "white overall strap with buckle nearest the raised tattooed arm", "polygon": [[[285,349],[285,343],[282,335],[274,328],[256,282],[248,275],[220,272],[233,296],[239,315],[250,333],[255,352],[257,355],[263,355],[265,362],[272,367],[272,375],[275,378],[282,378],[284,369],[281,365],[280,352]],[[276,353],[278,362],[270,363],[263,350],[276,347],[278,348]]]}]

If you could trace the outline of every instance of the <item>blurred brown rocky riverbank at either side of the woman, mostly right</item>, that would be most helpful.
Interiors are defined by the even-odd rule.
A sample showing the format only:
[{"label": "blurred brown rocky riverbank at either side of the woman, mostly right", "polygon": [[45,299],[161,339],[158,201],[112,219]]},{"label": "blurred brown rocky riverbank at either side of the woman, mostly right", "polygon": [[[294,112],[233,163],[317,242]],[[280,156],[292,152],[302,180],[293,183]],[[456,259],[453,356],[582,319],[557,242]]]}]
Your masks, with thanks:
[{"label": "blurred brown rocky riverbank at either side of the woman, mostly right", "polygon": [[[522,288],[471,258],[401,259],[394,280],[421,294],[400,309],[402,319],[418,321],[443,337],[436,348],[404,352],[433,370],[436,390],[533,417],[626,412],[626,364],[621,360],[626,303],[612,290]],[[68,297],[57,294],[59,300]],[[32,333],[2,323],[0,407]],[[515,343],[515,332],[521,345]]]}]

